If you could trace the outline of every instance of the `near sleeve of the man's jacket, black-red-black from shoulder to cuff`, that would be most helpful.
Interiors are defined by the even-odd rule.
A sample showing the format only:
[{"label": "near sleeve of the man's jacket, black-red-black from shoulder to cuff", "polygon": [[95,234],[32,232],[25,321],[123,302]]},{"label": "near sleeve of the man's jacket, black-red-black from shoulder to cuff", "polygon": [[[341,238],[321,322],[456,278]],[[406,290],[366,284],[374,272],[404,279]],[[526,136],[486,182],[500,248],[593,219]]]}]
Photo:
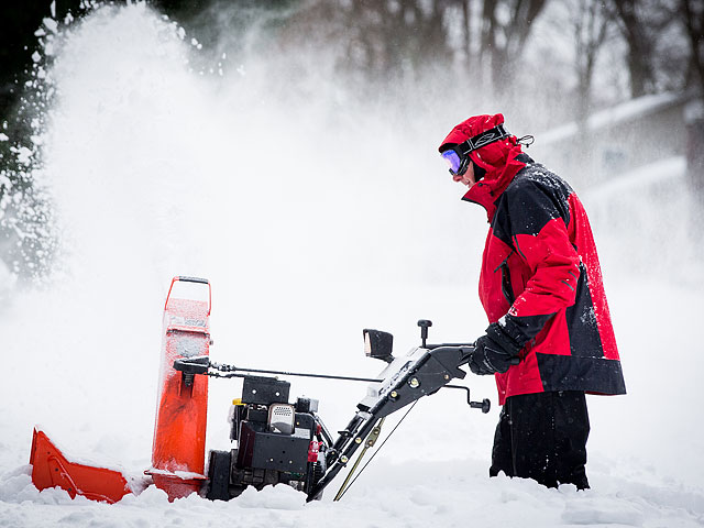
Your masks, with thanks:
[{"label": "near sleeve of the man's jacket, black-red-black from shoulder to cuff", "polygon": [[506,228],[531,275],[499,324],[522,346],[559,310],[574,304],[580,257],[568,235],[566,196],[530,179],[516,184],[506,189]]}]

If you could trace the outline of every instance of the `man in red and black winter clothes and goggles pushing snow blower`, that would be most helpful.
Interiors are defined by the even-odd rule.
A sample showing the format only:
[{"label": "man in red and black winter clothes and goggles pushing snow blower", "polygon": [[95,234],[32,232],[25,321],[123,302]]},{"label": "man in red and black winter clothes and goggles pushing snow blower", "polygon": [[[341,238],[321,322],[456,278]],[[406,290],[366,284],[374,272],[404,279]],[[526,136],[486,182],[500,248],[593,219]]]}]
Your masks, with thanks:
[{"label": "man in red and black winter clothes and goggles pushing snow blower", "polygon": [[503,405],[490,475],[588,488],[584,395],[626,387],[586,212],[501,113],[458,124],[439,151],[490,222],[480,299],[491,324],[469,358],[495,375]]}]

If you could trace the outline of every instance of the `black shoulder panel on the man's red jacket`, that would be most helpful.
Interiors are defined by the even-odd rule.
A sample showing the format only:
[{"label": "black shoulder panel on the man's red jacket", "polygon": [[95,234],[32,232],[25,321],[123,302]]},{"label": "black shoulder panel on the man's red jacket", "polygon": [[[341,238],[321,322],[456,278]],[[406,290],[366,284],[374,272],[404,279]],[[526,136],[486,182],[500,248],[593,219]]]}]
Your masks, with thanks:
[{"label": "black shoulder panel on the man's red jacket", "polygon": [[513,248],[516,234],[536,235],[550,220],[570,223],[572,188],[540,164],[526,165],[496,202],[494,235]]}]

